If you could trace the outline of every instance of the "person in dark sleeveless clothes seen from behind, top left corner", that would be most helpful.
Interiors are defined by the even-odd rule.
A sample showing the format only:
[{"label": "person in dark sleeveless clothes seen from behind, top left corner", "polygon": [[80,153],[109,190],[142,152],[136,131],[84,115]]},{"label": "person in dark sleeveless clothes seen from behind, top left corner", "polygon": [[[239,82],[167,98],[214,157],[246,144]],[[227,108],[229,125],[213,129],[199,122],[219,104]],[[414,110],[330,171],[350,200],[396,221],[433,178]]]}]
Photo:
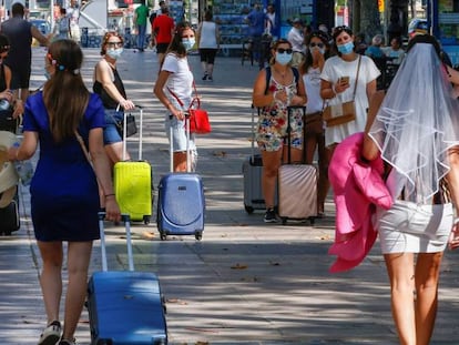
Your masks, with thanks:
[{"label": "person in dark sleeveless clothes seen from behind, top left corner", "polygon": [[[10,41],[10,52],[4,63],[11,69],[11,90],[17,98],[26,102],[29,97],[29,83],[32,63],[32,38],[42,45],[49,45],[49,40],[24,20],[24,7],[16,2],[11,7],[11,18],[1,23],[0,32]],[[19,92],[20,91],[20,92]]]}]

